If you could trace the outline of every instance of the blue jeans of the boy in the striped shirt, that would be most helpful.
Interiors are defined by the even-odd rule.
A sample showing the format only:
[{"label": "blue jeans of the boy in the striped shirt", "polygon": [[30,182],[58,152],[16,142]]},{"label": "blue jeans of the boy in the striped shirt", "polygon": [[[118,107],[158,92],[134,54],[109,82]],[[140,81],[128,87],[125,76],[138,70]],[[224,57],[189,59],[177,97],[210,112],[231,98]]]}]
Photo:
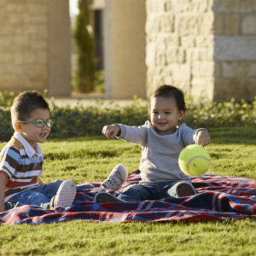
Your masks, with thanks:
[{"label": "blue jeans of the boy in the striped shirt", "polygon": [[49,202],[56,195],[61,183],[62,181],[58,179],[53,183],[44,184],[35,189],[21,191],[5,203],[5,209],[9,210],[23,205],[49,208]]}]

